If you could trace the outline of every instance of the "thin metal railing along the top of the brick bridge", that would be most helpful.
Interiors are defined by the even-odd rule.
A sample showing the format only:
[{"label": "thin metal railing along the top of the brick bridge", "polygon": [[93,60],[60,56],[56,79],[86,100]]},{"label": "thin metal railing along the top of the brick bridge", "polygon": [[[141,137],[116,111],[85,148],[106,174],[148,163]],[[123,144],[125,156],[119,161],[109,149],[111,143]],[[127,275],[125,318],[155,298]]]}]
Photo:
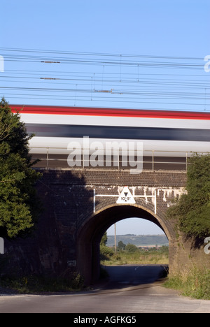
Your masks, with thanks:
[{"label": "thin metal railing along the top of the brick bridge", "polygon": [[[192,157],[193,152],[183,151],[162,151],[162,150],[144,150],[141,159],[139,157],[133,157],[125,161],[120,152],[118,157],[112,155],[109,159],[104,155],[99,155],[98,158],[94,158],[94,165],[91,164],[91,155],[87,157],[85,154],[80,154],[80,162],[72,163],[69,166],[69,152],[66,147],[31,147],[30,153],[33,160],[38,159],[38,163],[34,165],[34,168],[44,169],[118,169],[128,170],[134,169],[135,166],[142,165],[143,170],[187,170],[188,159]],[[209,152],[200,152],[207,154]],[[127,164],[126,164],[127,163]],[[74,166],[73,166],[74,165]]]}]

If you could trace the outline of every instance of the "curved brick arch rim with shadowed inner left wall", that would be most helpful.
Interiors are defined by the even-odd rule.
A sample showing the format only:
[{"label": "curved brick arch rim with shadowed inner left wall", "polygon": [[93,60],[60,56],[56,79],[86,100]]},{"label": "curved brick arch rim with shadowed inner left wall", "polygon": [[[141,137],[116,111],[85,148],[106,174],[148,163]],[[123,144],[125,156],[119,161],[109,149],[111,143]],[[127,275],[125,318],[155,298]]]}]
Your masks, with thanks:
[{"label": "curved brick arch rim with shadowed inner left wall", "polygon": [[77,270],[83,275],[87,284],[99,278],[99,243],[105,231],[117,221],[131,217],[152,221],[167,235],[169,248],[170,244],[174,243],[175,231],[165,219],[164,213],[158,210],[157,214],[154,214],[151,203],[145,203],[142,200],[140,202],[132,205],[118,205],[109,198],[100,201],[94,214],[89,215],[85,212],[85,215],[80,217],[83,223],[78,228],[76,261]]}]

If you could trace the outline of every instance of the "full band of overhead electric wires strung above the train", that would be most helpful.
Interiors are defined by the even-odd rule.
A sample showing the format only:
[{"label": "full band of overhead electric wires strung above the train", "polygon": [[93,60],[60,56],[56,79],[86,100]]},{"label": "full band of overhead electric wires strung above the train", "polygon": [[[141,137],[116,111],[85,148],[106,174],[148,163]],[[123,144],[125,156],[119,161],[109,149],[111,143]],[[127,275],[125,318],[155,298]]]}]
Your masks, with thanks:
[{"label": "full band of overhead electric wires strung above the train", "polygon": [[[16,94],[18,101],[71,101],[73,94],[73,105],[76,101],[89,105],[97,102],[97,106],[101,102],[107,106],[148,103],[160,107],[169,104],[170,108],[188,106],[188,110],[195,106],[208,110],[210,105],[210,80],[204,74],[201,57],[18,48],[0,48],[0,53],[10,65],[0,74],[0,93],[10,99]],[[71,64],[73,69],[61,69],[60,64]],[[195,73],[197,70],[200,73]]]}]

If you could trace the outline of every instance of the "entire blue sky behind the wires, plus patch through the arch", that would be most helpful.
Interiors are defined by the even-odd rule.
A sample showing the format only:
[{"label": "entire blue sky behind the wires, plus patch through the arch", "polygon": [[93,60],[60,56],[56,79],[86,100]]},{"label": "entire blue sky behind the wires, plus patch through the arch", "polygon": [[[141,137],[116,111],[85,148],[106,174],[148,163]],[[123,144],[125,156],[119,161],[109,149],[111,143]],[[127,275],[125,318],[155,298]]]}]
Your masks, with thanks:
[{"label": "entire blue sky behind the wires, plus patch through the arch", "polygon": [[[0,56],[5,58],[5,72],[0,72],[0,97],[5,95],[6,100],[16,104],[61,103],[63,106],[130,106],[130,108],[139,108],[140,99],[141,108],[209,110],[210,72],[206,73],[202,66],[204,57],[210,55],[209,14],[209,0],[1,0]],[[11,52],[8,48],[15,51]],[[48,50],[48,55],[54,57],[55,51],[67,53],[57,54],[59,59],[68,57],[70,52],[71,57],[75,52],[76,58],[80,57],[78,52],[83,52],[84,57],[81,58],[85,59],[90,56],[90,52],[112,54],[111,59],[118,61],[118,64],[109,66],[101,63],[83,66],[10,61],[9,54],[40,55],[38,52],[17,52],[17,49]],[[113,54],[116,54],[116,57],[113,57]],[[122,57],[125,54],[133,56],[130,60],[136,60],[134,56],[144,55],[147,63],[158,61],[163,63],[163,66],[150,68],[141,65],[134,65],[133,68],[123,66],[121,60],[123,62],[128,59]],[[47,57],[47,54],[45,55]],[[154,59],[153,56],[156,58]],[[158,59],[159,56],[165,58]],[[169,57],[182,59],[169,59]],[[104,60],[102,56],[97,58],[102,62]],[[182,62],[199,64],[200,68],[181,69],[179,66],[178,70],[174,67],[169,69],[166,64],[171,62],[179,65]],[[64,76],[69,78],[70,75],[66,72],[73,71],[77,74],[76,78],[82,76],[83,81],[75,80],[71,83],[68,81],[68,85],[66,80],[38,80],[36,84],[40,76],[55,78],[60,71],[62,71],[62,78]],[[25,73],[24,76],[30,77],[31,80],[20,78],[20,73]],[[111,74],[118,77],[118,83],[111,82],[113,76]],[[86,80],[84,75],[87,76],[87,81],[84,81]],[[105,82],[108,76],[109,82]],[[150,78],[146,83],[143,80],[143,84],[138,87],[141,87],[141,92],[151,88],[154,92],[153,96],[148,94],[143,96],[138,88],[137,93],[139,93],[134,99],[134,96],[130,95],[133,85],[130,86],[128,82],[120,90],[120,79],[131,79],[132,76],[135,82],[137,80],[140,82],[141,78]],[[158,80],[153,88],[155,78]],[[164,84],[161,84],[160,78],[164,79]],[[188,87],[181,89],[182,83],[186,80]],[[176,93],[184,92],[178,98],[174,94],[174,82],[177,87]],[[191,85],[191,82],[194,84]],[[17,90],[14,87],[22,87],[22,89]],[[37,93],[34,89],[29,92],[26,87],[69,87],[72,91],[71,96],[69,93],[62,92],[54,96],[51,91],[43,96],[41,95],[43,93],[40,91]],[[85,89],[85,93],[79,94],[79,88]],[[109,96],[108,102],[102,92],[101,94],[94,92],[95,89],[100,91],[100,89],[112,88],[116,94],[108,94],[106,98],[108,99]],[[164,97],[165,89],[171,92],[167,94],[167,100],[158,99],[157,92]],[[129,95],[125,96],[123,92]],[[186,94],[186,92],[190,93]],[[196,92],[198,95],[195,97]],[[120,96],[125,102],[118,102]],[[144,226],[147,226],[146,224]],[[135,228],[135,224],[133,226]],[[133,232],[125,228],[125,233]],[[151,229],[146,227],[144,233],[151,233]]]}]

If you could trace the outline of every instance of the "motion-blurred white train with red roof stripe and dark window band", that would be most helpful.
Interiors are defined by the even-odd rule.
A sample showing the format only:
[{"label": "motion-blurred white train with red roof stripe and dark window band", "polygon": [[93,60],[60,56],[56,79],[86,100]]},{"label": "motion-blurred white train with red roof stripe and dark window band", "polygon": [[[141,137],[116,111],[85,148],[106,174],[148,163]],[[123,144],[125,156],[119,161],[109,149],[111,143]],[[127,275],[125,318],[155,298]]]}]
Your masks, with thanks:
[{"label": "motion-blurred white train with red roof stripe and dark window band", "polygon": [[[31,152],[66,153],[72,140],[141,141],[144,152],[186,156],[185,152],[210,152],[210,112],[132,110],[62,106],[10,106],[35,137]],[[176,154],[173,154],[175,153]],[[183,153],[183,154],[181,154]]]}]

